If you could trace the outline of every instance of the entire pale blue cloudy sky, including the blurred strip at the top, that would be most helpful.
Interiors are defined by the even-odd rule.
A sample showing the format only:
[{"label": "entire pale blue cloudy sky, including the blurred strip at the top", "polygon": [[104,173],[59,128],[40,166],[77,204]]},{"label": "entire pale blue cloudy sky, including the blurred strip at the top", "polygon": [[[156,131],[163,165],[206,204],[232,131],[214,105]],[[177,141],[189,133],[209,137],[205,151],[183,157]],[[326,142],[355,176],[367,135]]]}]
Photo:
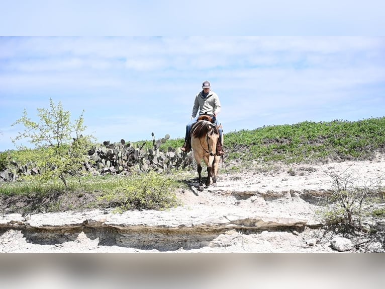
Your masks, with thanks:
[{"label": "entire pale blue cloudy sky, including the blurred strip at the top", "polygon": [[[55,7],[25,2],[24,9],[20,2],[0,0],[0,151],[16,149],[11,138],[24,127],[12,124],[24,109],[37,120],[37,108],[48,108],[50,98],[73,120],[84,110],[86,132],[100,142],[151,140],[152,132],[156,138],[184,137],[206,80],[222,104],[218,121],[225,139],[227,132],[264,125],[385,116],[381,2],[350,5],[345,14],[338,14],[344,1],[334,8],[328,1],[322,7],[280,2],[280,12],[274,1],[241,0],[248,4],[239,5],[242,10],[197,1],[187,2],[184,13],[175,1],[111,1],[107,10],[83,1],[76,13],[68,8],[72,1]],[[42,14],[43,2],[52,13]],[[202,19],[203,8],[219,12]],[[108,25],[98,22],[98,9]],[[274,12],[279,23],[274,26],[263,11]],[[73,21],[61,21],[69,15]]]}]

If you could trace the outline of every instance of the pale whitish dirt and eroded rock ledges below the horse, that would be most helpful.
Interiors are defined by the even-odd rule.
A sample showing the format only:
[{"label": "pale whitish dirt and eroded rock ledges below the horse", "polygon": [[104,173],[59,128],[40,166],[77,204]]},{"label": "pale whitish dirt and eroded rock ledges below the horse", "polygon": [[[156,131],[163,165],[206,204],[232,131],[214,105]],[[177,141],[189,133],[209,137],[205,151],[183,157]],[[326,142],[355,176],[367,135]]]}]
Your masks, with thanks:
[{"label": "pale whitish dirt and eroded rock ledges below the horse", "polygon": [[383,156],[231,174],[222,169],[217,186],[199,192],[191,183],[178,192],[183,205],[167,211],[4,215],[0,252],[336,252],[315,196],[333,189],[332,175],[383,187],[384,172]]}]

